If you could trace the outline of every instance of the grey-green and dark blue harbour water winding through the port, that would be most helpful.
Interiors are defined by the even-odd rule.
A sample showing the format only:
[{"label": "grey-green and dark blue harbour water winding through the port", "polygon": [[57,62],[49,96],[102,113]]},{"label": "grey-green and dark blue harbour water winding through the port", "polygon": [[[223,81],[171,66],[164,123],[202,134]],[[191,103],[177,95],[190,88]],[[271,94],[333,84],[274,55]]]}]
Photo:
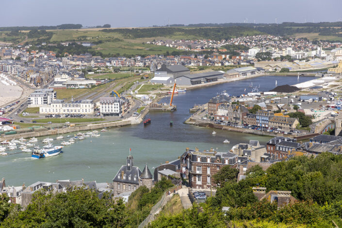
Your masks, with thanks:
[{"label": "grey-green and dark blue harbour water winding through the port", "polygon": [[[189,108],[194,104],[206,103],[219,91],[226,90],[228,94],[236,96],[250,92],[251,83],[253,87],[257,86],[259,91],[269,91],[276,87],[276,80],[277,85],[293,85],[312,79],[314,77],[299,77],[298,80],[297,77],[261,76],[188,90],[185,94],[174,97],[173,103],[177,105],[177,111],[148,113],[146,118],[151,119],[151,124],[146,127],[144,124],[138,124],[111,128],[100,132],[100,137],[86,138],[64,147],[63,153],[55,157],[32,159],[30,153],[0,156],[0,178],[4,177],[7,185],[14,186],[28,186],[36,181],[54,182],[57,179],[112,182],[121,165],[126,164],[130,148],[134,166],[142,169],[147,163],[153,173],[154,167],[177,159],[186,147],[198,147],[200,150],[213,147],[225,152],[235,144],[248,143],[251,139],[259,140],[261,145],[264,145],[270,137],[226,130],[216,130],[217,134],[212,135],[212,129],[183,122],[190,116]],[[169,102],[169,99],[170,97],[163,98],[162,102]],[[170,126],[170,121],[173,121],[173,126]],[[230,144],[223,144],[226,139]],[[61,140],[54,140],[52,144],[57,146],[60,142]],[[14,152],[18,151],[9,151]]]}]

